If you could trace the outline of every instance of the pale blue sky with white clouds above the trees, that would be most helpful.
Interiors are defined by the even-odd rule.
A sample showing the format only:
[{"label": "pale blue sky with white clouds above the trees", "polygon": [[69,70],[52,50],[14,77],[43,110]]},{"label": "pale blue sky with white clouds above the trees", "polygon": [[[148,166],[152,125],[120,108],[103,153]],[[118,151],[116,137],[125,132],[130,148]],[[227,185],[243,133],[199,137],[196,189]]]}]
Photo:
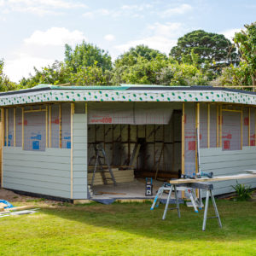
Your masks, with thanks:
[{"label": "pale blue sky with white clouds above the trees", "polygon": [[255,0],[0,0],[0,59],[12,81],[63,61],[83,40],[114,60],[145,44],[169,54],[177,38],[203,29],[232,38],[256,21]]}]

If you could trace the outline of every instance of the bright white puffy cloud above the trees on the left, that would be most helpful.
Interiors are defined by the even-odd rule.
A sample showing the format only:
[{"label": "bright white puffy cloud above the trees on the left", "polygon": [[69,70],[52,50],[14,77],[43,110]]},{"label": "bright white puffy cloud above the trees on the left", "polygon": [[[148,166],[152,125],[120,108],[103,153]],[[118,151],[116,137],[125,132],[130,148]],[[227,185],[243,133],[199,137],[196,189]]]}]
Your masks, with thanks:
[{"label": "bright white puffy cloud above the trees on the left", "polygon": [[65,27],[51,27],[45,32],[35,31],[29,38],[24,39],[25,44],[35,44],[39,46],[64,44],[77,44],[86,40],[84,33],[79,30],[69,31]]}]

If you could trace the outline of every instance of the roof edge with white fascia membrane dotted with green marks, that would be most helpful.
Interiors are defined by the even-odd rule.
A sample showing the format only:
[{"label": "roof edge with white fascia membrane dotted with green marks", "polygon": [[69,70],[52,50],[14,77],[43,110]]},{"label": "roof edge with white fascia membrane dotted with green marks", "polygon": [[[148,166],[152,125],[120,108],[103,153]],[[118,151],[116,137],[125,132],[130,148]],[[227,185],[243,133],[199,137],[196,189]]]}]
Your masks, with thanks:
[{"label": "roof edge with white fascia membrane dotted with green marks", "polygon": [[256,94],[212,86],[36,86],[0,94],[0,106],[42,102],[223,102],[256,105]]}]

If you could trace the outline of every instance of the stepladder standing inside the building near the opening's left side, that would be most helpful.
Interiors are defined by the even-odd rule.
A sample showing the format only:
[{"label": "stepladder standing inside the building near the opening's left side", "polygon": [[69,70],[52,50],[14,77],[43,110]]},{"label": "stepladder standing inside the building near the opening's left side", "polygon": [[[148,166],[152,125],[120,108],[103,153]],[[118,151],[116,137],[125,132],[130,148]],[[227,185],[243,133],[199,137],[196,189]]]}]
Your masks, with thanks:
[{"label": "stepladder standing inside the building near the opening's left side", "polygon": [[[108,158],[106,156],[105,150],[104,150],[104,148],[102,148],[102,146],[100,144],[96,144],[96,146],[95,146],[95,153],[96,153],[96,161],[95,161],[95,167],[94,167],[93,175],[92,175],[91,182],[90,182],[90,188],[93,187],[93,182],[94,182],[94,178],[95,178],[96,172],[101,172],[104,184],[108,184],[108,179],[112,179],[113,185],[116,186],[116,181],[115,181],[115,178],[113,176],[113,172],[112,172],[111,166],[108,163]],[[111,177],[106,177],[105,173],[107,172],[107,170],[103,169],[101,159],[105,160],[105,163],[108,166],[108,172],[110,173]],[[97,170],[97,165],[99,165],[99,170]]]}]

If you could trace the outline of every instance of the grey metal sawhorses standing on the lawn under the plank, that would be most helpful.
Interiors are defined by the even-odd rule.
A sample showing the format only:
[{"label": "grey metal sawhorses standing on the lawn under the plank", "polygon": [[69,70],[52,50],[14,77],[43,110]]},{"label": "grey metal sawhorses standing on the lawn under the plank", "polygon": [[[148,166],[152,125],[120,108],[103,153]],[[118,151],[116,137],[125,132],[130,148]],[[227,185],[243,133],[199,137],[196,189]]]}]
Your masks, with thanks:
[{"label": "grey metal sawhorses standing on the lawn under the plank", "polygon": [[[168,187],[164,187],[164,188],[161,187],[161,188],[163,188],[162,192],[164,190],[169,190],[169,194],[168,194],[167,201],[166,201],[165,212],[164,212],[163,217],[162,217],[163,220],[166,218],[167,211],[168,210],[173,210],[173,209],[177,209],[177,216],[178,216],[178,218],[180,218],[180,209],[179,209],[179,203],[178,203],[178,199],[177,199],[177,186],[183,186],[183,187],[188,187],[188,188],[192,188],[192,189],[206,190],[207,191],[207,197],[206,197],[206,205],[205,205],[205,212],[204,212],[204,219],[203,219],[202,230],[205,231],[206,230],[206,226],[207,226],[207,213],[208,213],[209,198],[210,198],[210,196],[212,198],[212,205],[214,207],[214,211],[215,211],[216,215],[213,216],[213,217],[209,217],[209,218],[218,218],[218,225],[219,225],[220,228],[222,228],[221,220],[220,220],[220,217],[219,217],[219,214],[218,214],[218,208],[217,208],[217,205],[216,205],[216,202],[215,202],[215,199],[214,199],[214,195],[212,194],[213,185],[210,184],[210,183],[179,183],[179,184],[172,184],[171,183],[170,188],[168,188]],[[172,189],[174,189],[174,194],[175,194],[175,200],[176,200],[177,207],[175,207],[175,208],[168,208],[169,207],[169,203],[171,201]],[[160,190],[160,193],[162,193],[162,192]],[[154,202],[153,202],[153,204],[151,206],[151,210],[154,209],[154,206],[158,206],[158,204],[159,204],[159,202],[158,202],[158,204],[156,204],[158,199],[159,199],[158,195],[159,195],[159,193],[154,198]],[[160,195],[162,195],[162,194],[160,194]]]}]

